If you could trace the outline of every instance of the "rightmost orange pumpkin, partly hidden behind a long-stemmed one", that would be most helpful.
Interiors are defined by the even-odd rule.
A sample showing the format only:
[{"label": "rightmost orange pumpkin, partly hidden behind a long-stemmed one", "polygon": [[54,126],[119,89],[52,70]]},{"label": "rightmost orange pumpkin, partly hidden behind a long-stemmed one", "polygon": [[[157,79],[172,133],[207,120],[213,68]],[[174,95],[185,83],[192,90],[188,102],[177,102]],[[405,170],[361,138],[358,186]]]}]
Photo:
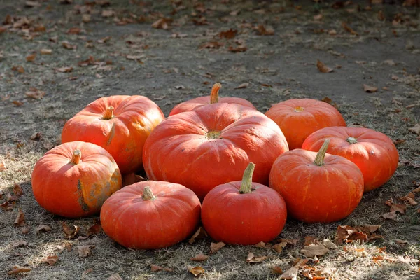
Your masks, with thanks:
[{"label": "rightmost orange pumpkin, partly hidden behind a long-stemmed one", "polygon": [[365,192],[386,183],[398,167],[399,155],[393,141],[365,127],[325,127],[309,135],[302,148],[316,151],[327,138],[331,140],[328,153],[351,160],[361,170]]}]

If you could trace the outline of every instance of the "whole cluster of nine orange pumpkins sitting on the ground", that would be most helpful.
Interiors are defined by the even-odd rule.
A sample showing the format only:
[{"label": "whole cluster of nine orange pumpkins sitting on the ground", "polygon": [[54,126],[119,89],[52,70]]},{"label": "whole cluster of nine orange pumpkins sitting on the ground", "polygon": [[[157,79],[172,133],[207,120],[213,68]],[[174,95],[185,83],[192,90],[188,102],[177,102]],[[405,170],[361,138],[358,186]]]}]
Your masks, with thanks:
[{"label": "whole cluster of nine orange pumpkins sitting on the ground", "polygon": [[[346,127],[330,104],[290,99],[263,114],[245,99],[219,99],[220,88],[168,118],[143,96],[87,105],[36,162],[36,200],[69,218],[100,212],[106,235],[129,248],[172,246],[200,220],[216,241],[249,245],[276,238],[287,216],[349,216],[398,166],[391,139]],[[122,188],[142,168],[149,181]]]}]

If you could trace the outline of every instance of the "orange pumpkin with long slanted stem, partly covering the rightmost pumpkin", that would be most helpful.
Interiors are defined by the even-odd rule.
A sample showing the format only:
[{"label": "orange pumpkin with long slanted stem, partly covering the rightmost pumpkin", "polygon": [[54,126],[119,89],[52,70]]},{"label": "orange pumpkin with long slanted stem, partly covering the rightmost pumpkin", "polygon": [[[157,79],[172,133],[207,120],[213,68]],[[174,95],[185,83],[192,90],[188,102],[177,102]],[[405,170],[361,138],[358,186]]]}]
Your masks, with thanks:
[{"label": "orange pumpkin with long slanted stem, partly covering the rightmost pumpkin", "polygon": [[346,158],[325,155],[328,143],[318,153],[302,149],[283,153],[269,175],[269,186],[286,201],[288,215],[299,221],[339,221],[362,199],[362,172]]}]

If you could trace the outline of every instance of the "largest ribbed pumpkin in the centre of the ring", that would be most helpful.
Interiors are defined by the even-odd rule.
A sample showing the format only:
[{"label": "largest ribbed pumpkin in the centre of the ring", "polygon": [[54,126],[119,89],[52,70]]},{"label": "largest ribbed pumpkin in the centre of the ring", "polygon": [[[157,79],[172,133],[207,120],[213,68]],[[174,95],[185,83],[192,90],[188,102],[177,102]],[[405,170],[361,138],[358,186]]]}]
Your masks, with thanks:
[{"label": "largest ribbed pumpkin in the centre of the ring", "polygon": [[212,188],[241,180],[249,162],[257,165],[254,181],[267,184],[272,163],[285,151],[283,133],[264,114],[217,103],[160,123],[146,140],[143,163],[149,179],[180,183],[202,200]]}]

